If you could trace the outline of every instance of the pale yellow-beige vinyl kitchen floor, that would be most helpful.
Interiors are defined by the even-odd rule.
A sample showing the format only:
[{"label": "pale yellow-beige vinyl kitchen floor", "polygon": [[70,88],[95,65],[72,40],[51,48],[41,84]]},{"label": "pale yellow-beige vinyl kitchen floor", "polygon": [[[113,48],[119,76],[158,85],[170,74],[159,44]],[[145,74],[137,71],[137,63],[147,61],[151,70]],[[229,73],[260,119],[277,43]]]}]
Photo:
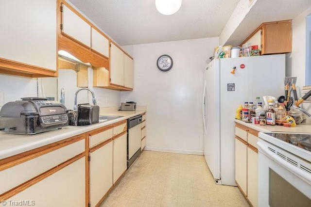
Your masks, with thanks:
[{"label": "pale yellow-beige vinyl kitchen floor", "polygon": [[100,207],[249,207],[214,183],[203,156],[143,151]]}]

